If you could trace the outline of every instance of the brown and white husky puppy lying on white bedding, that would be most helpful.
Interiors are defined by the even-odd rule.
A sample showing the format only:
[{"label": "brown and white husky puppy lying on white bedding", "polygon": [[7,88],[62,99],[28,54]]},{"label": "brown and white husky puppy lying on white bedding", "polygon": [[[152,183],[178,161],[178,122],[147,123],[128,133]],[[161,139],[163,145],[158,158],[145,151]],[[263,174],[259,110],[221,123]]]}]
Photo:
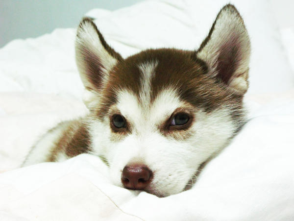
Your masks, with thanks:
[{"label": "brown and white husky puppy lying on white bedding", "polygon": [[197,50],[147,49],[123,59],[85,18],[75,56],[89,115],[49,130],[23,166],[91,153],[115,185],[169,196],[245,123],[250,41],[231,4]]}]

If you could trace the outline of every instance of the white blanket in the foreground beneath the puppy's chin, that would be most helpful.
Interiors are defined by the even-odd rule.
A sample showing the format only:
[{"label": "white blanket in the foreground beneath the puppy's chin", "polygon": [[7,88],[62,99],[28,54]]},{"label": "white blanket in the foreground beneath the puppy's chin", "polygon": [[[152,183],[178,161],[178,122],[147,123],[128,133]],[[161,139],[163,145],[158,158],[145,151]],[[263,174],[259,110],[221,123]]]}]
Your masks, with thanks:
[{"label": "white blanket in the foreground beneath the puppy's chin", "polygon": [[158,198],[116,187],[98,157],[82,154],[1,174],[0,220],[291,220],[294,91],[247,103],[250,120],[189,191]]}]

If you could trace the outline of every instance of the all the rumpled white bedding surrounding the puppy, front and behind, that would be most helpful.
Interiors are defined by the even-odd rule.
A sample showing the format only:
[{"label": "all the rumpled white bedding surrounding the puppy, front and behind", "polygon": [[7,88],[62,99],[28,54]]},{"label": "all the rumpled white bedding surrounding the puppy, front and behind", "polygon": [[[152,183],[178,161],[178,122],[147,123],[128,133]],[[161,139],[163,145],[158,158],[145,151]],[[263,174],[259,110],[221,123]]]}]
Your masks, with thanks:
[{"label": "all the rumpled white bedding surrounding the puppy, front and behind", "polygon": [[[216,1],[148,1],[89,15],[98,19],[111,45],[127,56],[148,47],[196,47],[222,4],[209,7],[211,2]],[[293,65],[294,27],[282,30],[280,41],[277,27],[269,23],[270,11],[263,7],[266,1],[255,3],[254,10],[253,1],[246,2],[235,1],[252,35],[250,74],[255,76],[245,97],[249,121],[206,165],[193,189],[165,198],[113,186],[105,165],[87,154],[16,169],[38,136],[87,110],[74,64],[74,29],[15,40],[0,49],[0,171],[8,171],[0,174],[0,221],[293,220],[294,74],[288,60]],[[193,7],[195,14],[187,13]],[[196,14],[205,17],[200,25]],[[256,26],[254,16],[259,19]],[[164,25],[154,26],[156,18]],[[138,33],[130,38],[139,23]],[[152,28],[159,32],[154,35]],[[266,43],[271,47],[265,48]]]}]

